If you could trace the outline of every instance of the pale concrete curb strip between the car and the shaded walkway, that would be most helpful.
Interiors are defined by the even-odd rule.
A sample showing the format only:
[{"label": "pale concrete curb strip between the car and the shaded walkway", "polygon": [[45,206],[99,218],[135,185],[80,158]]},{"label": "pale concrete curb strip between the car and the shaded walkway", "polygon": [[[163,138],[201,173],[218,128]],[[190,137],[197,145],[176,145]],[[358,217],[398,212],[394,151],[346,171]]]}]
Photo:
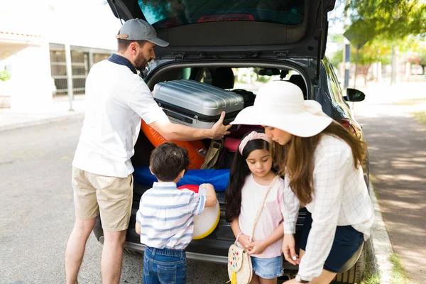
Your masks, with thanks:
[{"label": "pale concrete curb strip between the car and the shaded walkway", "polygon": [[389,239],[388,231],[386,231],[385,222],[378,206],[376,194],[374,193],[373,184],[370,182],[368,187],[370,190],[371,203],[374,208],[374,224],[371,228],[371,238],[368,239],[368,252],[373,256],[373,273],[378,273],[381,278],[381,284],[391,283],[391,275],[393,265],[390,257],[393,253],[391,239]]}]

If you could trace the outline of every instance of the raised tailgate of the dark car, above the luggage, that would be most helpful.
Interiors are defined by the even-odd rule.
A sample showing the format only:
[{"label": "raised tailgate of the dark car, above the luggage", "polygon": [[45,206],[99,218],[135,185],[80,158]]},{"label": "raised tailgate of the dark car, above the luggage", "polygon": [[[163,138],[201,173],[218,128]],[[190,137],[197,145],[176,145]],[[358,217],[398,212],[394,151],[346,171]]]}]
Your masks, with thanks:
[{"label": "raised tailgate of the dark car, above the luggage", "polygon": [[[315,58],[335,0],[108,0],[125,21],[142,18],[170,43],[157,58]],[[318,69],[317,69],[318,70]]]}]

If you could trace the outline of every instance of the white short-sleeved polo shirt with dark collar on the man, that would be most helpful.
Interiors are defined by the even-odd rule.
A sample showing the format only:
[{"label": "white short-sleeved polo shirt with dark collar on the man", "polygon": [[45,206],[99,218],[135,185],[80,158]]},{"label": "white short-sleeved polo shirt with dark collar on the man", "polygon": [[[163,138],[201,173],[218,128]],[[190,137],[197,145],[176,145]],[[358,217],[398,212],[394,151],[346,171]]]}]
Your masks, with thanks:
[{"label": "white short-sleeved polo shirt with dark collar on the man", "polygon": [[[72,165],[97,175],[126,178],[146,124],[168,119],[129,60],[119,55],[95,64],[86,80],[86,116]],[[123,65],[126,64],[126,65]],[[129,67],[130,65],[130,67]]]}]

